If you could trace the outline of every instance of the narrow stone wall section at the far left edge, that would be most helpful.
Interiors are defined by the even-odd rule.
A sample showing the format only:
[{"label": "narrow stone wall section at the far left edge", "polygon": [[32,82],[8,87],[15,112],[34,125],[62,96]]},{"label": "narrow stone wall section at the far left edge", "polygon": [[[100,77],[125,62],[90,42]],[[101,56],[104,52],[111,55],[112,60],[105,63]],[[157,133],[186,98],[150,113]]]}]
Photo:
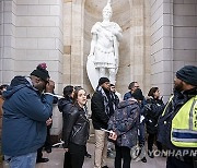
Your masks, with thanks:
[{"label": "narrow stone wall section at the far left edge", "polygon": [[14,75],[16,1],[0,1],[0,83]]}]

